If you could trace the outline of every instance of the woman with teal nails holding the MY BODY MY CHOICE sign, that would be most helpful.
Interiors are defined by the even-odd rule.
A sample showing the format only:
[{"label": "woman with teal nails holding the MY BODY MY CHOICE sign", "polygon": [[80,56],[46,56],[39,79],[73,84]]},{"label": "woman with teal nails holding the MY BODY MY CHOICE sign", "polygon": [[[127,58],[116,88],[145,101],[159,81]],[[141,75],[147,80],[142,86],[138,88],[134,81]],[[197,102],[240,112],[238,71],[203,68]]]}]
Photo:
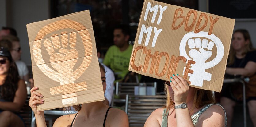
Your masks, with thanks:
[{"label": "woman with teal nails holding the MY BODY MY CHOICE sign", "polygon": [[180,75],[166,81],[166,105],[156,109],[144,127],[226,127],[226,113],[212,91],[190,87]]}]

